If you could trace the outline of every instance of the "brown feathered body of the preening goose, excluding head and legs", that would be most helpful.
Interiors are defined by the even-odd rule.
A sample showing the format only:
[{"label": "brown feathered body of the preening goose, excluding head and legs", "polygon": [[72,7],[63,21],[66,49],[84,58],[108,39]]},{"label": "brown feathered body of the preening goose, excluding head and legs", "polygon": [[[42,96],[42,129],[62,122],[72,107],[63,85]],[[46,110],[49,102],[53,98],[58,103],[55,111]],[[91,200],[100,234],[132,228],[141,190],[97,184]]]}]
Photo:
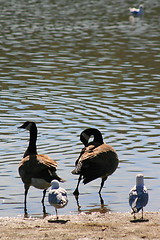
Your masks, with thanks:
[{"label": "brown feathered body of the preening goose, excluding head and legs", "polygon": [[84,183],[111,175],[118,166],[118,156],[108,144],[90,145],[82,150],[73,174],[81,174]]}]

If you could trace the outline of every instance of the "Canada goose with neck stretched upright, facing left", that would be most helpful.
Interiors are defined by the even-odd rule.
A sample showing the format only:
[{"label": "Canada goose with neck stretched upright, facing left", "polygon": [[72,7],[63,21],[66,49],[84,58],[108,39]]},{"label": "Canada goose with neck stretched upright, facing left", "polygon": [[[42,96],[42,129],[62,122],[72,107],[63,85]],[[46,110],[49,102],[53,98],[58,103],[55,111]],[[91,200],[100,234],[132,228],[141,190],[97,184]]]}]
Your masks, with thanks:
[{"label": "Canada goose with neck stretched upright, facing left", "polygon": [[50,187],[53,179],[57,179],[60,182],[63,180],[56,174],[56,161],[52,160],[47,155],[37,154],[36,124],[34,122],[27,121],[19,128],[24,128],[30,131],[29,145],[18,167],[19,175],[25,188],[24,212],[25,215],[27,215],[27,193],[29,187],[33,186],[38,189],[43,189],[42,206],[43,213],[46,214],[44,206],[46,190]]}]

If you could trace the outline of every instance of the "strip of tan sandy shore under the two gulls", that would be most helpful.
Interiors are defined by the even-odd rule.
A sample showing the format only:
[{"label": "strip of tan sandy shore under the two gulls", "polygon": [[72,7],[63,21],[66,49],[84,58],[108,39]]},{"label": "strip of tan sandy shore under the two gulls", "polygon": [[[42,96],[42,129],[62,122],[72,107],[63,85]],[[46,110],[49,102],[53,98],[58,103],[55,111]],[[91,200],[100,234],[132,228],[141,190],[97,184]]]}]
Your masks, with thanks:
[{"label": "strip of tan sandy shore under the two gulls", "polygon": [[54,221],[54,216],[0,218],[0,239],[160,239],[160,212],[145,212],[143,222],[131,222],[130,213],[82,213],[59,219]]}]

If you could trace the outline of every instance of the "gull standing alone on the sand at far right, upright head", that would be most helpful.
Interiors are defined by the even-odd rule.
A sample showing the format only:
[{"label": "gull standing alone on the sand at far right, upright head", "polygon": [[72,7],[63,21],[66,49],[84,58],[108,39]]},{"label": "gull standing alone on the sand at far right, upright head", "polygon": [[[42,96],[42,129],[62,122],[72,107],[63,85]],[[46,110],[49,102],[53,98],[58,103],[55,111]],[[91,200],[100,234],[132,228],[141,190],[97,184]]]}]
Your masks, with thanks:
[{"label": "gull standing alone on the sand at far right, upright head", "polygon": [[143,207],[148,203],[148,192],[147,188],[144,186],[144,176],[143,174],[138,174],[136,176],[136,185],[129,192],[129,205],[132,208],[132,214],[134,214],[134,219],[136,219],[135,214],[142,210],[142,220],[143,220]]}]

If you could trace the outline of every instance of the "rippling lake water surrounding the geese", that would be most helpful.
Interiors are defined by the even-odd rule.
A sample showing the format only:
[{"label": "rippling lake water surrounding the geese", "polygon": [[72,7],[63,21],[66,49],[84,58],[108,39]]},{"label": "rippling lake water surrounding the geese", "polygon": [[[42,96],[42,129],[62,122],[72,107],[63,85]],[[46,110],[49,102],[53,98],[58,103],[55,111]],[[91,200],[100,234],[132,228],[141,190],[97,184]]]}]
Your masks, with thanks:
[{"label": "rippling lake water surrounding the geese", "polygon": [[[79,134],[96,127],[120,164],[102,190],[105,208],[130,211],[128,192],[142,172],[148,211],[159,211],[159,10],[145,1],[142,18],[129,17],[129,1],[0,1],[0,209],[23,215],[18,164],[33,120],[38,152],[58,162],[69,204],[78,212],[72,175],[82,144]],[[135,5],[134,5],[135,6]],[[100,179],[80,185],[85,212],[99,211]],[[28,212],[41,215],[42,191],[30,188]],[[54,210],[49,206],[49,213]]]}]

